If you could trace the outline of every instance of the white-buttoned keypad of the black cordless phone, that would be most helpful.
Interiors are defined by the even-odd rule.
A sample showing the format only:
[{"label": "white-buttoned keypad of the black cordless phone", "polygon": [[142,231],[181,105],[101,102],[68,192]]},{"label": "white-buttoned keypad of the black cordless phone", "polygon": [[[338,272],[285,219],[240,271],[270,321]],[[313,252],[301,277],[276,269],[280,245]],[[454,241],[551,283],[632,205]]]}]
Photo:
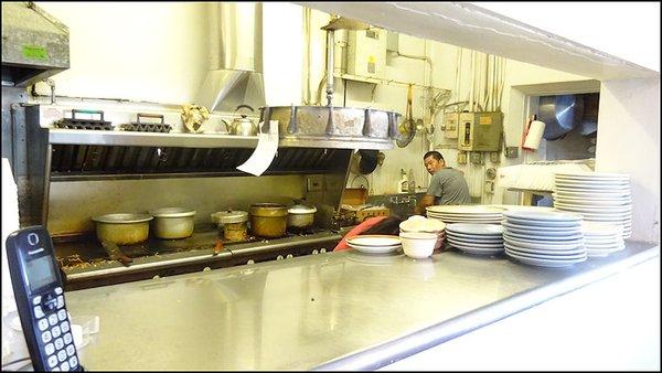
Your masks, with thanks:
[{"label": "white-buttoned keypad of the black cordless phone", "polygon": [[[64,309],[61,287],[53,292],[32,298],[36,327],[41,331],[40,343],[45,352],[46,364],[53,371],[78,370],[78,356],[71,333],[71,324]],[[44,313],[45,310],[45,313]]]}]

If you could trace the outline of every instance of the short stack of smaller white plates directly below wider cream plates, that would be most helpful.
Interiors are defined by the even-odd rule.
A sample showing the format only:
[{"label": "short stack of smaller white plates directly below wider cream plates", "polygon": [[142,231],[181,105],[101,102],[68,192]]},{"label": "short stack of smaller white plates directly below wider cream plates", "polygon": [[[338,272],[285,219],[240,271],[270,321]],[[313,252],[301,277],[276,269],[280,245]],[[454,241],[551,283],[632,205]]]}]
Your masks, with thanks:
[{"label": "short stack of smaller white plates directly below wider cream plates", "polygon": [[493,255],[503,252],[500,224],[451,223],[446,225],[450,246],[468,254]]}]

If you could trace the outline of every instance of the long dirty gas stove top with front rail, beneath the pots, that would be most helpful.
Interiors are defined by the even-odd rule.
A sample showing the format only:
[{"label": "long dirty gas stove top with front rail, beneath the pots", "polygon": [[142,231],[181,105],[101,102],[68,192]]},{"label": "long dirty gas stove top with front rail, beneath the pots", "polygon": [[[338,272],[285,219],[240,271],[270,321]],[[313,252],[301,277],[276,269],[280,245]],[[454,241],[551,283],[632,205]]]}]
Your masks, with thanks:
[{"label": "long dirty gas stove top with front rail, beneath the pots", "polygon": [[[231,267],[295,256],[331,252],[342,235],[312,227],[266,239],[249,236],[227,242],[217,230],[194,232],[182,239],[150,238],[145,244],[119,246],[132,259],[128,266],[110,259],[94,235],[77,239],[54,237],[55,254],[66,276],[68,290],[105,286],[156,276],[172,276],[203,269]],[[222,249],[216,244],[222,242]],[[216,249],[215,249],[216,248]]]}]

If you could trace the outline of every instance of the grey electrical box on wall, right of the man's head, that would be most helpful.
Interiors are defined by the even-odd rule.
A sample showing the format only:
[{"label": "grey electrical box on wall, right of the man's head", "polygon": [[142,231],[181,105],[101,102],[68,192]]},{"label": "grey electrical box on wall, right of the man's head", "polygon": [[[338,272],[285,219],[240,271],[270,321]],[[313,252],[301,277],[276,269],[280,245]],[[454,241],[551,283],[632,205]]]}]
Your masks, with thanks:
[{"label": "grey electrical box on wall, right of the man's head", "polygon": [[458,149],[467,151],[499,151],[503,113],[460,113]]}]

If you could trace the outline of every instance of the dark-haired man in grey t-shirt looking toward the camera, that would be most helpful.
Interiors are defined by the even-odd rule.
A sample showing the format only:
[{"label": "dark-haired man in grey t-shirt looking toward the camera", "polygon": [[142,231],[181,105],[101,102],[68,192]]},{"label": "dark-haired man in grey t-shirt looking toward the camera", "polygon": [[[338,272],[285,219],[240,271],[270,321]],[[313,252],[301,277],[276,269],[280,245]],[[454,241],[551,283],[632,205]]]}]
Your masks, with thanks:
[{"label": "dark-haired man in grey t-shirt looking toward the camera", "polygon": [[420,199],[415,214],[425,215],[425,207],[435,204],[469,204],[469,185],[463,172],[446,167],[446,161],[438,151],[428,151],[423,156],[423,164],[433,175],[426,195]]}]

